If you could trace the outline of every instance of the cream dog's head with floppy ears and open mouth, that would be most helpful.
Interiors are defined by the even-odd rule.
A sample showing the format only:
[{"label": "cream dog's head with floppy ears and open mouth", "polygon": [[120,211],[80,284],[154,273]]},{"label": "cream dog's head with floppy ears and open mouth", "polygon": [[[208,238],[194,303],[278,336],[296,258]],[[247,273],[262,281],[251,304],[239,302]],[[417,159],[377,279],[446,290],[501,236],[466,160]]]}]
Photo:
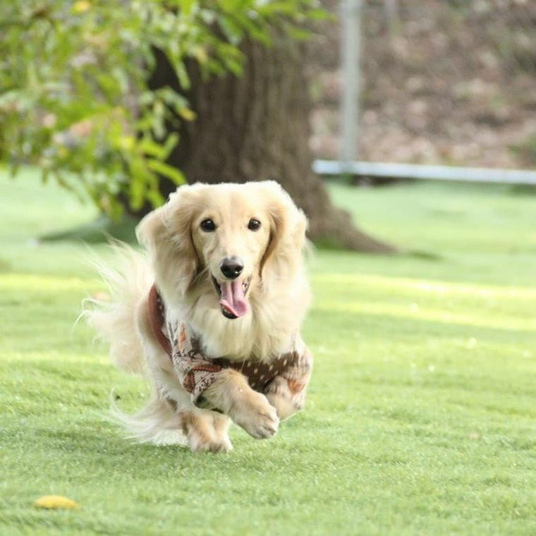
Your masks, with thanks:
[{"label": "cream dog's head with floppy ears and open mouth", "polygon": [[198,183],[178,188],[136,233],[166,300],[212,293],[210,303],[236,319],[250,310],[251,293],[296,275],[306,226],[303,212],[274,181]]}]

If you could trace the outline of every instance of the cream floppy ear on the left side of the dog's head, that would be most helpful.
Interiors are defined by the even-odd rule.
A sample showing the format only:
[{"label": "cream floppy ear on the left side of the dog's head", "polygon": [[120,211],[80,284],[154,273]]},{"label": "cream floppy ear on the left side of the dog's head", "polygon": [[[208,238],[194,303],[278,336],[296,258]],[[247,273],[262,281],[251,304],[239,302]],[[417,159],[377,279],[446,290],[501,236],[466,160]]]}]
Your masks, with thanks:
[{"label": "cream floppy ear on the left side of the dog's head", "polygon": [[166,205],[147,214],[136,227],[136,238],[149,252],[157,286],[167,300],[177,293],[183,295],[197,274],[191,189],[188,185],[178,188]]}]

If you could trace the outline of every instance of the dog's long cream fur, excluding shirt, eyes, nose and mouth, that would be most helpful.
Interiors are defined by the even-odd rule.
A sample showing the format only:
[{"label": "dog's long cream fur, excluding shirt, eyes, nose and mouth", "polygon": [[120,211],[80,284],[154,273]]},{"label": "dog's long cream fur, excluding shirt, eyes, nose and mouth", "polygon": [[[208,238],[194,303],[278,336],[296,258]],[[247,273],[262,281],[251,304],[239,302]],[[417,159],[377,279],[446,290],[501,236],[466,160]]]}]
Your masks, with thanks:
[{"label": "dog's long cream fur, excluding shirt, eyes, nose and mouth", "polygon": [[[213,212],[222,221],[216,242],[215,236],[198,232],[199,219]],[[241,217],[261,219],[262,233],[242,231]],[[114,365],[142,374],[154,387],[154,396],[140,412],[115,412],[130,437],[157,444],[188,442],[193,450],[231,448],[229,418],[193,406],[154,337],[147,317],[150,287],[156,281],[171,322],[183,319],[201,334],[206,355],[269,362],[299,333],[310,301],[303,265],[306,225],[303,212],[273,181],[195,184],[178,188],[166,205],[141,221],[137,236],[147,256],[126,245],[114,247],[116,269],[98,267],[111,300],[89,300],[85,314],[109,341]],[[232,320],[221,314],[211,281],[222,253],[244,257],[245,271],[252,276],[250,312]],[[245,422],[257,410],[265,419],[274,419],[266,398],[247,383],[243,395],[248,397],[247,408],[236,409],[240,403],[229,397],[235,388],[237,393],[243,391],[243,380],[240,374],[228,376],[211,387],[210,394],[222,408],[227,406],[233,420]],[[243,427],[255,435],[247,422]]]}]

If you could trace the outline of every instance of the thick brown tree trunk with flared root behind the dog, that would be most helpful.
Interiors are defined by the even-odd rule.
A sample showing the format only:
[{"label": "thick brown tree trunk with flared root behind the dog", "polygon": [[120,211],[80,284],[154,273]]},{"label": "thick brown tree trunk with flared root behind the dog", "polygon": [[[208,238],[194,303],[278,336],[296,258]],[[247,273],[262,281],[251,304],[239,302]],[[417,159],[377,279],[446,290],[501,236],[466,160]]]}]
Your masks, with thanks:
[{"label": "thick brown tree trunk with flared root behind the dog", "polygon": [[[312,172],[309,147],[311,100],[305,73],[307,47],[280,37],[272,47],[243,44],[241,77],[205,80],[190,66],[190,105],[197,114],[183,122],[180,142],[169,164],[188,182],[274,179],[291,194],[310,221],[312,240],[367,252],[396,249],[355,228],[350,215],[332,205],[322,181]],[[163,54],[150,80],[153,88],[178,82]],[[163,193],[174,190],[164,183]]]}]

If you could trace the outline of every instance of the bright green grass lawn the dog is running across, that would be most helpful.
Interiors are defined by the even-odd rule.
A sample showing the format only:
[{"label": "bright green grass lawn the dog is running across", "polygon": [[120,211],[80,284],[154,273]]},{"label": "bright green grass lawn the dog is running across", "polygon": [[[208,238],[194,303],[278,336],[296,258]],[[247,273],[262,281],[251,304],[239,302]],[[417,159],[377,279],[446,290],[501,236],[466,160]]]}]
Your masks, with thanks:
[{"label": "bright green grass lawn the dog is running across", "polygon": [[[3,174],[1,535],[536,532],[536,196],[331,191],[418,253],[317,252],[305,412],[269,441],[234,428],[235,449],[212,456],[132,444],[105,420],[114,386],[128,410],[147,389],[73,328],[100,288],[87,248],[33,240],[95,212],[32,171]],[[80,508],[33,508],[45,494]]]}]

